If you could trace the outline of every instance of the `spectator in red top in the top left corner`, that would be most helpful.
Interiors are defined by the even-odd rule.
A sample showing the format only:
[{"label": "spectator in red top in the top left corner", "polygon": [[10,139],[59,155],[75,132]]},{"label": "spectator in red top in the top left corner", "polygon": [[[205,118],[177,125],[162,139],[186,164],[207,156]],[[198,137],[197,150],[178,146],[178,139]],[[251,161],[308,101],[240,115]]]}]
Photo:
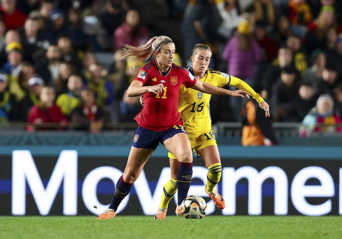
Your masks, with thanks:
[{"label": "spectator in red top in the top left corner", "polygon": [[1,0],[0,14],[6,29],[17,29],[24,25],[26,15],[19,11],[16,0]]}]

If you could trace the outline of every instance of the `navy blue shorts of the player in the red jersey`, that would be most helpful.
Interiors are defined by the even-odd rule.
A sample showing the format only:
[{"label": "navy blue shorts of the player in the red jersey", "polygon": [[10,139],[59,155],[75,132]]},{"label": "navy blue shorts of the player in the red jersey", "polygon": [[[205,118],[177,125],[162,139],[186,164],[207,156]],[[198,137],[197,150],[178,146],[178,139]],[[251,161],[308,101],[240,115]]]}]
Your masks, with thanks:
[{"label": "navy blue shorts of the player in the red jersey", "polygon": [[177,133],[186,133],[183,125],[175,125],[163,131],[153,131],[138,126],[133,133],[132,146],[141,149],[156,149],[159,142],[163,144],[165,140]]}]

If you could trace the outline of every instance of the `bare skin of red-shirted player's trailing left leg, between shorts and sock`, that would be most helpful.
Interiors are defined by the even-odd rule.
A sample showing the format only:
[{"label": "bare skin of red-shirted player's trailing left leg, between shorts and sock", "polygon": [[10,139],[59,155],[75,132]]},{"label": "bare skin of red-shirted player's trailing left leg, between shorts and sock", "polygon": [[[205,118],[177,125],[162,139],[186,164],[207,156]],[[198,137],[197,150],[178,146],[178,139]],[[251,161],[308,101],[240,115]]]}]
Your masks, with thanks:
[{"label": "bare skin of red-shirted player's trailing left leg, between shorts and sock", "polygon": [[[123,180],[126,183],[133,183],[140,175],[146,161],[152,155],[154,149],[141,149],[131,147],[127,165],[123,172]],[[127,180],[127,181],[126,181]]]}]

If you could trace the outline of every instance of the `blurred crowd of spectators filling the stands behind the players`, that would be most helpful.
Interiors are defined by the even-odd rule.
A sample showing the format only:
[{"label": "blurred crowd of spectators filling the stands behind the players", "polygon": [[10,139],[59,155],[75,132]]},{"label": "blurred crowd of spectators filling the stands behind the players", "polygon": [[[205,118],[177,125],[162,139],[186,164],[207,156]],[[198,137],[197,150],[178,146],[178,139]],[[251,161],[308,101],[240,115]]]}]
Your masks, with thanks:
[{"label": "blurred crowd of spectators filling the stands behind the players", "polygon": [[[0,122],[135,122],[139,97],[125,90],[146,62],[120,47],[167,35],[183,67],[209,45],[209,67],[250,84],[273,121],[331,130],[317,123],[341,124],[341,33],[341,0],[1,0]],[[239,121],[243,106],[213,96],[213,123]]]}]

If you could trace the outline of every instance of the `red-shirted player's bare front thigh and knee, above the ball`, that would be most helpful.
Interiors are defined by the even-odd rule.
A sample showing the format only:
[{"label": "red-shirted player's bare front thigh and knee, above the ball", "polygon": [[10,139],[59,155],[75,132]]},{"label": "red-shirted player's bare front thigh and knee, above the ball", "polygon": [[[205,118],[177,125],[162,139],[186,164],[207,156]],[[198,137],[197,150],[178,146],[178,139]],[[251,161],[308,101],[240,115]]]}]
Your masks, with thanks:
[{"label": "red-shirted player's bare front thigh and knee, above the ball", "polygon": [[163,142],[167,151],[172,153],[180,162],[191,163],[192,151],[186,133],[177,133]]}]

